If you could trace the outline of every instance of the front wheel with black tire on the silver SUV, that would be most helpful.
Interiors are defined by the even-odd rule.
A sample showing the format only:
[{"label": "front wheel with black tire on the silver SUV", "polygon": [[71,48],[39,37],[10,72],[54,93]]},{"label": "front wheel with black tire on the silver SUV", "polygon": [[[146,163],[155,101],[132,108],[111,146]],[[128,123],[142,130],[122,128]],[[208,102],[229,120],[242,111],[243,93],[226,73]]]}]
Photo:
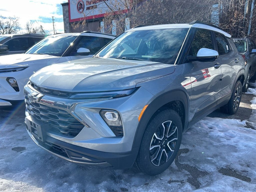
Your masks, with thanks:
[{"label": "front wheel with black tire on the silver SUV", "polygon": [[182,122],[178,113],[169,109],[159,112],[146,127],[136,166],[145,174],[160,174],[174,161],[181,140]]}]

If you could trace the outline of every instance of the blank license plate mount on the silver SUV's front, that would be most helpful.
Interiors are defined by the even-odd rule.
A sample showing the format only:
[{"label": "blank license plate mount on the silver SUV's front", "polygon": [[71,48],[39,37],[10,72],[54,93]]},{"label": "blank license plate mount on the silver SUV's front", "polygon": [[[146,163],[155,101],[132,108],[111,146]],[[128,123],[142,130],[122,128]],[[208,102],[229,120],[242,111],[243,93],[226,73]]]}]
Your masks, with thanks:
[{"label": "blank license plate mount on the silver SUV's front", "polygon": [[25,122],[28,132],[30,132],[35,138],[38,138],[40,141],[44,142],[46,136],[42,132],[42,126],[44,124],[38,124],[37,122],[33,121],[30,116],[25,118]]}]

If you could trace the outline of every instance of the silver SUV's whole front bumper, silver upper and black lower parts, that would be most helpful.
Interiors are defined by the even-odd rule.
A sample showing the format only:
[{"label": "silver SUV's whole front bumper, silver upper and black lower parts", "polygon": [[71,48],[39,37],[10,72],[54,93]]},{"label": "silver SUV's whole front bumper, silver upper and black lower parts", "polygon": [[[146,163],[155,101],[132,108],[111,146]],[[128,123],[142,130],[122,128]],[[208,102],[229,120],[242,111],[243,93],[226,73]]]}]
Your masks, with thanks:
[{"label": "silver SUV's whole front bumper, silver upper and black lower parts", "polygon": [[[75,136],[67,136],[61,131],[52,130],[51,125],[39,120],[33,114],[26,113],[26,126],[30,137],[36,144],[52,154],[70,162],[90,166],[129,168],[134,164],[138,148],[133,141],[138,127],[138,116],[142,108],[152,99],[145,89],[140,88],[134,94],[110,100],[81,101],[39,94],[26,85],[26,102],[44,109],[58,109],[62,114],[68,112],[72,118],[84,125]],[[33,98],[33,94],[36,95]],[[124,136],[115,136],[99,112],[101,109],[116,110],[122,119]],[[51,116],[47,111],[46,115]],[[59,112],[58,112],[59,113]]]}]

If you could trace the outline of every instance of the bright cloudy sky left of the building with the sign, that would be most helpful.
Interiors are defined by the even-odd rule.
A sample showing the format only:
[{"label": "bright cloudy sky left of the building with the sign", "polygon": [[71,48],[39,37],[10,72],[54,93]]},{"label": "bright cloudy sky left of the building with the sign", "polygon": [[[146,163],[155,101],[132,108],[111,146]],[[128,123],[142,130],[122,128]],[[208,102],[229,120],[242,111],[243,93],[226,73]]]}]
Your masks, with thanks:
[{"label": "bright cloudy sky left of the building with the sign", "polygon": [[[8,3],[10,2],[10,3]],[[34,22],[33,27],[43,26],[44,30],[53,34],[52,16],[56,32],[64,33],[62,5],[68,0],[0,0],[0,15],[18,17],[20,33],[26,33],[26,23]]]}]

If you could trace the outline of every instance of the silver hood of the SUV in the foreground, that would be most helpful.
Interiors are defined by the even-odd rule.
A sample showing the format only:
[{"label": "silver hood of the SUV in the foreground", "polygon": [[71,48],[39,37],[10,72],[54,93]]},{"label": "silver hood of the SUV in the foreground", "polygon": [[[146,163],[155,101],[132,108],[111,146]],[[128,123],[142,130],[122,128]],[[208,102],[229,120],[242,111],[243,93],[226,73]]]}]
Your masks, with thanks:
[{"label": "silver hood of the SUV in the foreground", "polygon": [[47,66],[30,80],[43,88],[68,92],[123,90],[171,74],[174,69],[174,65],[159,62],[87,58]]}]

